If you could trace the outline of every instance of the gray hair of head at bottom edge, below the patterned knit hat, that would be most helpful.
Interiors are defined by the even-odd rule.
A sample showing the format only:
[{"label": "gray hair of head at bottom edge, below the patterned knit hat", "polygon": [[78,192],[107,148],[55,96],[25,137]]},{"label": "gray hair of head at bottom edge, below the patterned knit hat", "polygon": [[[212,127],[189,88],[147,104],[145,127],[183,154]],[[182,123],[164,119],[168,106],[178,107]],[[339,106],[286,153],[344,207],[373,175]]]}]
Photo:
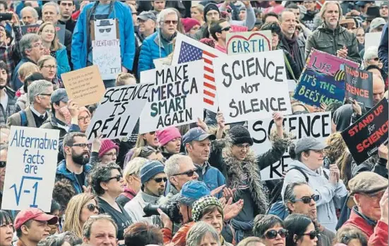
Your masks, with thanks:
[{"label": "gray hair of head at bottom edge, below the patterned knit hat", "polygon": [[186,235],[186,245],[187,246],[197,246],[201,244],[201,240],[209,233],[217,242],[217,245],[221,245],[220,237],[215,228],[208,223],[203,221],[197,222],[194,226],[191,227],[191,230],[188,231]]}]

